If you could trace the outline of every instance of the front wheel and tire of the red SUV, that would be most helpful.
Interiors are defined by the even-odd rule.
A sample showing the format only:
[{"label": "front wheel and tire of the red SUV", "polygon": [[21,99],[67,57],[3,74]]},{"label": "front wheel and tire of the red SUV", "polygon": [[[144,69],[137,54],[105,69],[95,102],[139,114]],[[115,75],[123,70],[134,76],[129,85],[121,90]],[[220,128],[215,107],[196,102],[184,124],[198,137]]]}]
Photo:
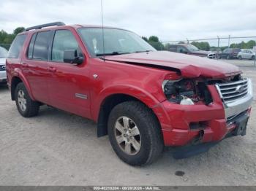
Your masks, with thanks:
[{"label": "front wheel and tire of the red SUV", "polygon": [[[125,121],[132,134],[129,134],[129,130],[124,131]],[[122,133],[116,127],[121,128]],[[135,130],[136,127],[138,130]],[[125,133],[132,135],[132,138],[125,137]],[[126,101],[112,109],[108,118],[108,136],[116,155],[129,165],[151,164],[159,158],[164,148],[157,117],[138,101]]]}]

